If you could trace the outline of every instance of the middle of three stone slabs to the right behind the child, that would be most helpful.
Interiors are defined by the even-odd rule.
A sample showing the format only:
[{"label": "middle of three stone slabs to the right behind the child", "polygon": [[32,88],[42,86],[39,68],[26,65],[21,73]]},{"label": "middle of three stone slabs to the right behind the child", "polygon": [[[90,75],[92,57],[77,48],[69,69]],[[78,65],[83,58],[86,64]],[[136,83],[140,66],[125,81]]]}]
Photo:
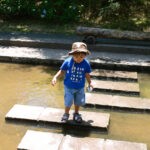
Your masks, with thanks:
[{"label": "middle of three stone slabs to the right behind the child", "polygon": [[123,81],[102,81],[92,80],[94,83],[93,91],[100,92],[111,92],[118,94],[132,94],[139,95],[139,84],[134,82],[123,82]]}]

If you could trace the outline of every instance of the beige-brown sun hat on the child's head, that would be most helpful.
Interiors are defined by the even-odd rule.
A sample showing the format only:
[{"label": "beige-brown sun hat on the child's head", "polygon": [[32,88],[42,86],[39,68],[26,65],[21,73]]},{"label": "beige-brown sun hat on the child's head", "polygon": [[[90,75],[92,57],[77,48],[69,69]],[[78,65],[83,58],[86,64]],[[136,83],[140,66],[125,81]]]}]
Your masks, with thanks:
[{"label": "beige-brown sun hat on the child's head", "polygon": [[72,44],[72,50],[68,53],[69,55],[73,55],[74,53],[86,53],[90,54],[90,51],[87,50],[87,45],[83,42],[75,42]]}]

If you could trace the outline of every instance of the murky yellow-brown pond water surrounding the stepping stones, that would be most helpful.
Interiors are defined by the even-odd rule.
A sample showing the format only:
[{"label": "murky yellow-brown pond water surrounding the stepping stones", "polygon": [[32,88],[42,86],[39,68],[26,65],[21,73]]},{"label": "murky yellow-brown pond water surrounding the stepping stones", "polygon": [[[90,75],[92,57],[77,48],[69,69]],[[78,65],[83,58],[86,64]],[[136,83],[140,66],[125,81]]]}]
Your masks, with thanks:
[{"label": "murky yellow-brown pond water surrounding the stepping stones", "polygon": [[[14,104],[63,108],[63,83],[50,82],[57,69],[0,63],[0,150],[15,150],[28,129],[64,133],[61,128],[5,121]],[[150,99],[150,74],[138,74],[141,97]],[[82,108],[83,109],[83,108]],[[86,109],[110,113],[108,133],[66,130],[66,134],[146,143],[150,149],[150,114]]]}]

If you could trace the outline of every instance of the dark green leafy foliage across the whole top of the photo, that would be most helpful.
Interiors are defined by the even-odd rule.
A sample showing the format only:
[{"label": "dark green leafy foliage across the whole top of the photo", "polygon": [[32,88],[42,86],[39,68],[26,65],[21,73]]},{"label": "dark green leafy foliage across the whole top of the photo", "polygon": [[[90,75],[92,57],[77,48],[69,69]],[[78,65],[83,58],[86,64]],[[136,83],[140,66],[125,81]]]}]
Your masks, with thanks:
[{"label": "dark green leafy foliage across the whole top of the photo", "polygon": [[150,26],[149,0],[0,0],[0,17],[80,23],[123,30]]}]

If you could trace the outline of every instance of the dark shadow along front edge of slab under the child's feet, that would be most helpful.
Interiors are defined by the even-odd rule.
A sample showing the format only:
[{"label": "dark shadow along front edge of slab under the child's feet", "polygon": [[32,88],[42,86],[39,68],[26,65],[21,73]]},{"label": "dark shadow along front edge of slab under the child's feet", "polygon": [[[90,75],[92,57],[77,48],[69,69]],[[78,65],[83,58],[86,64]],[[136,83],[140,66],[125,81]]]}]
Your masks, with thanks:
[{"label": "dark shadow along front edge of slab under the child's feet", "polygon": [[82,123],[75,123],[69,120],[67,123],[37,121],[29,119],[5,118],[5,123],[15,125],[34,126],[36,128],[59,129],[63,134],[75,134],[80,136],[89,136],[92,132],[107,134],[106,128],[92,127],[93,120],[82,121]]}]

